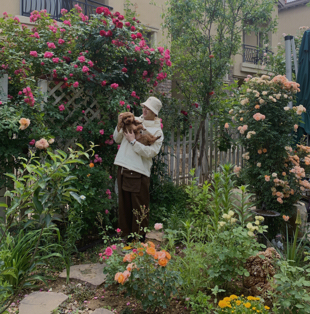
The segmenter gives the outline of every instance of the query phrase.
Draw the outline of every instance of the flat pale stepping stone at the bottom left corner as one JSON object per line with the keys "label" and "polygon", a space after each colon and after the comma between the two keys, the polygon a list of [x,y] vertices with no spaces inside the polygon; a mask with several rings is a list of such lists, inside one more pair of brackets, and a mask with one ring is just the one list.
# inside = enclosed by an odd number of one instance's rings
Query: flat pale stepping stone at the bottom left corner
{"label": "flat pale stepping stone at the bottom left corner", "polygon": [[19,302],[20,314],[51,314],[68,296],[61,292],[32,292]]}

